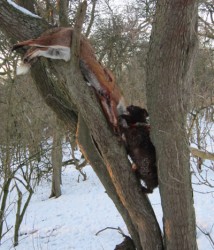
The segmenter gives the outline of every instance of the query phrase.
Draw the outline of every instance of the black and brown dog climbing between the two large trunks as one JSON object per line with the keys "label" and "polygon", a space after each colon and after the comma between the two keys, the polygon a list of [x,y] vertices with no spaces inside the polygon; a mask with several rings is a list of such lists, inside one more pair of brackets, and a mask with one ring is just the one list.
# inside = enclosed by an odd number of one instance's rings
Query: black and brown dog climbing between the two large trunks
{"label": "black and brown dog climbing between the two large trunks", "polygon": [[131,157],[132,170],[143,180],[145,193],[152,193],[158,186],[155,147],[150,139],[148,112],[138,106],[128,106],[128,114],[120,116],[123,141],[127,154]]}

